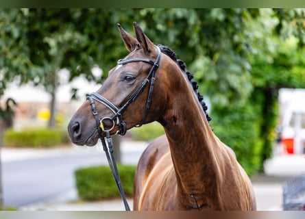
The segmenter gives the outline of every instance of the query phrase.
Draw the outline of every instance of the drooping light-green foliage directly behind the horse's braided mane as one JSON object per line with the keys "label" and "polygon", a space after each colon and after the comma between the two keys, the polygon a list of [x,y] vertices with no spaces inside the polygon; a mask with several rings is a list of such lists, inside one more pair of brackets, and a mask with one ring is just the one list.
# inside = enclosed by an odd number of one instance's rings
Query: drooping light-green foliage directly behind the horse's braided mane
{"label": "drooping light-green foliage directly behind the horse's braided mane", "polygon": [[175,50],[204,83],[202,91],[213,103],[228,105],[247,99],[252,89],[246,58],[251,45],[244,37],[243,23],[258,16],[258,10],[146,9],[140,13],[145,16],[140,22],[145,33]]}

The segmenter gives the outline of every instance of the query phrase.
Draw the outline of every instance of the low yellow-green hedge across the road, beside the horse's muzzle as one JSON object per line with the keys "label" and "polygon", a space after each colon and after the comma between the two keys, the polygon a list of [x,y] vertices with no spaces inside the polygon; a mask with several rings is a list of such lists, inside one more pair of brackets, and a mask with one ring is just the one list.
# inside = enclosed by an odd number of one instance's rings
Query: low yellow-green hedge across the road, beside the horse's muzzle
{"label": "low yellow-green hedge across the road, beside the horse's muzzle", "polygon": [[43,128],[28,128],[22,131],[8,129],[3,134],[3,143],[12,148],[40,148],[58,146],[67,142],[66,131]]}

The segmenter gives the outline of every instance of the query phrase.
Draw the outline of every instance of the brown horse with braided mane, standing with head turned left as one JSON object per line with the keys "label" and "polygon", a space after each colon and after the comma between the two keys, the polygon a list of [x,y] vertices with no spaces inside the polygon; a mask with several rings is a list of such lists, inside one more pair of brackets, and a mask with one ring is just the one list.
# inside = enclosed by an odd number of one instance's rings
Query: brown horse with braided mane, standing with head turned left
{"label": "brown horse with braided mane, standing with head turned left", "polygon": [[[103,104],[97,104],[103,130],[122,134],[122,124],[131,129],[158,121],[166,133],[149,144],[138,162],[134,210],[255,210],[251,182],[210,128],[206,107],[183,62],[167,47],[158,49],[136,23],[136,38],[118,26],[130,53],[110,70],[95,95],[112,104],[100,99]],[[156,78],[147,76],[152,66]],[[143,83],[150,86],[138,92]],[[90,112],[86,101],[71,118],[68,129],[75,144],[97,143],[99,131]]]}

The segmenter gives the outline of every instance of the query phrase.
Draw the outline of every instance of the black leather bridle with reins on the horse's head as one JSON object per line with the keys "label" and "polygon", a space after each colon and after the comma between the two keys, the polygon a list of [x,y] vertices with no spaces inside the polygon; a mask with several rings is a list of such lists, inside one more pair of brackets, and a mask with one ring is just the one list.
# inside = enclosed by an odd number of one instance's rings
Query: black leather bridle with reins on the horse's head
{"label": "black leather bridle with reins on the horse's head", "polygon": [[[119,189],[119,192],[121,194],[121,197],[123,199],[123,203],[125,205],[125,209],[127,211],[130,211],[130,207],[126,201],[125,198],[125,194],[123,191],[123,187],[121,185],[121,179],[119,177],[119,171],[117,170],[117,164],[115,162],[114,159],[114,154],[113,154],[113,146],[112,146],[112,139],[110,137],[110,131],[112,131],[112,129],[114,129],[115,125],[118,125],[119,127],[119,131],[117,131],[117,134],[120,134],[121,136],[125,135],[126,131],[127,131],[127,127],[126,127],[126,123],[123,121],[122,118],[122,113],[126,110],[126,108],[132,103],[134,102],[138,96],[143,92],[143,90],[145,89],[145,87],[147,86],[147,84],[150,81],[150,86],[149,86],[149,92],[148,92],[148,96],[147,96],[147,101],[146,101],[146,105],[145,105],[145,111],[143,114],[143,118],[141,120],[141,122],[136,125],[136,127],[141,127],[141,125],[143,125],[145,123],[145,120],[147,118],[147,114],[148,114],[148,110],[151,104],[151,97],[152,97],[152,93],[154,90],[154,81],[155,81],[155,76],[156,76],[156,70],[159,67],[159,63],[160,63],[160,57],[161,57],[161,51],[159,47],[156,47],[158,54],[156,57],[156,61],[151,61],[145,57],[135,57],[132,59],[127,59],[127,60],[119,60],[117,62],[117,64],[119,65],[123,65],[123,64],[127,64],[130,62],[147,62],[149,64],[152,65],[151,70],[149,71],[147,77],[142,81],[141,86],[139,86],[127,99],[127,101],[122,105],[121,108],[116,107],[113,103],[111,103],[110,101],[108,101],[108,99],[104,98],[103,96],[97,94],[96,92],[93,92],[92,94],[90,94],[87,99],[91,105],[92,111],[93,111],[93,116],[95,118],[95,123],[96,123],[96,127],[97,127],[97,131],[99,133],[99,138],[101,139],[101,142],[103,144],[103,151],[105,151],[106,153],[106,157],[108,159],[108,164],[110,166],[110,169],[112,171],[112,175],[114,177],[114,181],[117,183],[117,188]],[[97,107],[95,105],[95,101],[98,101],[99,103],[102,103],[103,105],[106,105],[106,107],[108,107],[112,112],[113,112],[113,116],[112,117],[103,117],[103,118],[99,118],[98,113],[97,113]],[[104,123],[103,121],[106,120],[110,120],[112,122],[112,127],[110,127],[110,129],[105,129],[104,127]],[[105,137],[103,137],[103,133],[105,133],[104,136],[106,136],[106,140],[108,143],[108,147],[105,141]],[[109,149],[108,149],[109,148]]]}

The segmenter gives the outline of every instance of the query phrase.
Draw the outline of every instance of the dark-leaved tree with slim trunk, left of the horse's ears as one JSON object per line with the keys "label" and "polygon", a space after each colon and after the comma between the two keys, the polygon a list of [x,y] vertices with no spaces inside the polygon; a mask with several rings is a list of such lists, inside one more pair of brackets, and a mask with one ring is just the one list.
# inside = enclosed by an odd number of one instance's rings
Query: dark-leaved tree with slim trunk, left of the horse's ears
{"label": "dark-leaved tree with slim trunk, left of the horse's ears", "polygon": [[29,60],[35,66],[34,82],[43,85],[51,94],[49,126],[54,127],[56,88],[59,86],[58,70],[68,69],[70,81],[80,75],[85,75],[89,81],[101,81],[101,78],[94,77],[92,68],[98,66],[107,72],[115,63],[114,59],[122,53],[123,49],[116,47],[121,39],[115,23],[119,22],[117,13],[123,14],[124,10],[25,11],[27,38],[31,39],[28,40]]}

